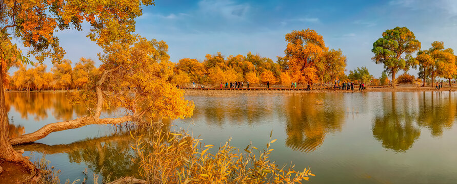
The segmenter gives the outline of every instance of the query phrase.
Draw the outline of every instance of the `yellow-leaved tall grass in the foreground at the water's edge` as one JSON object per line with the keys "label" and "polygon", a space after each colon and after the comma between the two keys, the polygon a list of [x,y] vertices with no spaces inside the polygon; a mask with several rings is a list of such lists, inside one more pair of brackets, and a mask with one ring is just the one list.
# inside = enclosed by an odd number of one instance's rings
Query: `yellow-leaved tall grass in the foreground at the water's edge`
{"label": "yellow-leaved tall grass in the foreground at the water's edge", "polygon": [[215,150],[187,131],[152,129],[149,135],[132,133],[139,172],[148,183],[301,183],[314,176],[309,168],[295,171],[294,165],[279,168],[272,162],[271,133],[266,149],[249,144],[242,150],[229,139]]}

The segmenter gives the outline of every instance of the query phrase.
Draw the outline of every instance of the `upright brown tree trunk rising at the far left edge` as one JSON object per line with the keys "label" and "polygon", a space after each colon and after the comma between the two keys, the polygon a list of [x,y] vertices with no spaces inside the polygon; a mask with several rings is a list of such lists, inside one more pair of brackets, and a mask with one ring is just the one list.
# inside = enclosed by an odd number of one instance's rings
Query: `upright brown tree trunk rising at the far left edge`
{"label": "upright brown tree trunk rising at the far left edge", "polygon": [[9,162],[23,163],[24,166],[30,170],[30,172],[34,172],[35,167],[30,160],[23,157],[22,154],[16,152],[10,143],[9,123],[5,108],[5,91],[3,86],[5,76],[3,76],[3,67],[5,67],[4,64],[0,64],[0,159],[4,159]]}

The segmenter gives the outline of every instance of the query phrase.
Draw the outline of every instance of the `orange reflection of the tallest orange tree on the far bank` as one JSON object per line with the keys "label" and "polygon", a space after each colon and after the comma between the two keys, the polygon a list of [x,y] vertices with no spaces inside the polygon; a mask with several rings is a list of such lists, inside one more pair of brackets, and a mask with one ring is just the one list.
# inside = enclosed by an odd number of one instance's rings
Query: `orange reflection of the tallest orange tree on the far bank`
{"label": "orange reflection of the tallest orange tree on the far bank", "polygon": [[320,147],[327,133],[341,131],[345,118],[342,104],[342,94],[306,94],[287,98],[286,146],[304,152]]}

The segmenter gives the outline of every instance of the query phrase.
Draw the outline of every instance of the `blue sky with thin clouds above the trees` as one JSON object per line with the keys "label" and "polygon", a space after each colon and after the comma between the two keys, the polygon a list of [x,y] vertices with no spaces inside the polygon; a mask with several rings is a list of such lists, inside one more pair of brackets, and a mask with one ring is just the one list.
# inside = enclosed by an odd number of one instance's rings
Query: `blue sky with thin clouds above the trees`
{"label": "blue sky with thin clouds above the trees", "polygon": [[[166,41],[172,62],[186,57],[203,61],[206,54],[216,52],[229,56],[249,51],[275,61],[276,56],[284,56],[285,34],[310,28],[324,37],[330,49],[343,51],[348,71],[367,66],[379,77],[383,66],[371,60],[372,44],[382,32],[396,26],[414,32],[422,49],[438,40],[457,50],[457,1],[157,0],[137,18],[136,33]],[[85,26],[83,31],[57,33],[67,52],[65,58],[73,63],[81,57],[97,60],[101,49],[86,38],[87,32]],[[45,64],[49,70],[51,63]]]}

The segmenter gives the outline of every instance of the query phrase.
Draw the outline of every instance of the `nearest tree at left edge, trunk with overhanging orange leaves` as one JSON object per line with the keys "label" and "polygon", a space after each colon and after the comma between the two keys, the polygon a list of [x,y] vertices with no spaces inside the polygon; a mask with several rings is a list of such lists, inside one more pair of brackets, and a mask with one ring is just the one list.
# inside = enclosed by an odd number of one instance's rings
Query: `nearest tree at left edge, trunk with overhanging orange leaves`
{"label": "nearest tree at left edge, trunk with overhanging orange leaves", "polygon": [[43,62],[45,58],[59,62],[65,51],[54,35],[57,30],[81,30],[82,22],[87,21],[91,26],[88,37],[98,45],[107,45],[114,40],[125,42],[131,39],[135,18],[142,15],[142,5],[152,4],[153,0],[0,0],[0,159],[22,162],[34,170],[32,164],[12,148],[9,140],[4,108],[5,74],[9,67],[18,62],[29,62],[11,42],[11,35],[22,41],[24,47],[28,48],[27,54],[34,55],[38,62]]}

